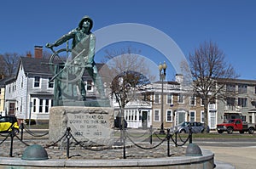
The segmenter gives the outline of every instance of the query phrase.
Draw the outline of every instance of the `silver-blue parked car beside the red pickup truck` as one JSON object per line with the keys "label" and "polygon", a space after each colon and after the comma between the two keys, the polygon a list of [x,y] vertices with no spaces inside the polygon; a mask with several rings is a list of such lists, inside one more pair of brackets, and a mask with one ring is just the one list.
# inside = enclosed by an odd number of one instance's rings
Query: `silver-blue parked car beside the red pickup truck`
{"label": "silver-blue parked car beside the red pickup truck", "polygon": [[[205,131],[204,124],[201,122],[190,122],[190,121],[183,121],[182,123],[178,124],[176,127],[172,128],[171,131],[178,132],[178,133],[189,133],[189,126],[191,127],[192,133],[200,133]],[[207,132],[210,132],[210,127],[206,128]]]}

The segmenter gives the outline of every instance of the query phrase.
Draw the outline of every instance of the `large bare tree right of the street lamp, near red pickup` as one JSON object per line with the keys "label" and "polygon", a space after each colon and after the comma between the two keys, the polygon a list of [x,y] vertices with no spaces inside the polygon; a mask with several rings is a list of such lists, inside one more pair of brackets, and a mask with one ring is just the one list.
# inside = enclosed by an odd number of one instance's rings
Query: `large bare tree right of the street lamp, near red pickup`
{"label": "large bare tree right of the street lamp, near red pickup", "polygon": [[216,43],[204,42],[189,54],[189,65],[195,93],[204,103],[204,122],[208,125],[208,104],[225,98],[224,87],[237,78],[234,68],[225,62],[225,54]]}

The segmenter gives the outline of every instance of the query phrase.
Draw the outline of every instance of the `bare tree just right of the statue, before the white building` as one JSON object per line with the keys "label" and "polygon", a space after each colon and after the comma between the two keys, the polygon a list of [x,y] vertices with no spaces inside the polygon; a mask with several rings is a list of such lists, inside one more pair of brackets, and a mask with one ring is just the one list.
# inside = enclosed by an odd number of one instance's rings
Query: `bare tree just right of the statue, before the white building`
{"label": "bare tree just right of the statue, before the white building", "polygon": [[[107,54],[104,60],[110,69],[111,76],[111,93],[113,99],[119,104],[120,119],[124,125],[124,109],[125,105],[131,100],[142,99],[137,91],[143,85],[154,80],[154,76],[150,75],[148,66],[143,57],[140,57],[137,50],[131,47],[121,49],[120,51],[105,51]],[[124,127],[124,126],[123,126]]]}

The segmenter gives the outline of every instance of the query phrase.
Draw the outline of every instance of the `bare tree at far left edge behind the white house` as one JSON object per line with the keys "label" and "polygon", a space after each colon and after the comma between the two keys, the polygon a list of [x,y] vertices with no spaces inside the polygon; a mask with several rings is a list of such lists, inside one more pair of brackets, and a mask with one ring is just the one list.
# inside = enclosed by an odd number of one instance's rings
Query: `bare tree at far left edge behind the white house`
{"label": "bare tree at far left edge behind the white house", "polygon": [[1,71],[4,76],[13,76],[19,65],[20,55],[16,53],[0,54]]}

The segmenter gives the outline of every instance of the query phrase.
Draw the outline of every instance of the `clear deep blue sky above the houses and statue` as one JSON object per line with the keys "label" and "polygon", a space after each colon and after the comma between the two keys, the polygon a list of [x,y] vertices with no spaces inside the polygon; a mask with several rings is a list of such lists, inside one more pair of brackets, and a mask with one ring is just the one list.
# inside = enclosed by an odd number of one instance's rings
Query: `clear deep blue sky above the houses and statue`
{"label": "clear deep blue sky above the houses and statue", "polygon": [[[255,8],[253,0],[3,1],[0,54],[33,53],[35,45],[55,42],[87,14],[94,20],[92,31],[121,23],[152,26],[171,37],[186,57],[211,40],[224,51],[225,61],[234,66],[241,79],[255,80]],[[158,51],[136,43],[132,47],[141,49],[157,64],[164,59]],[[173,75],[171,71],[167,74]]]}

